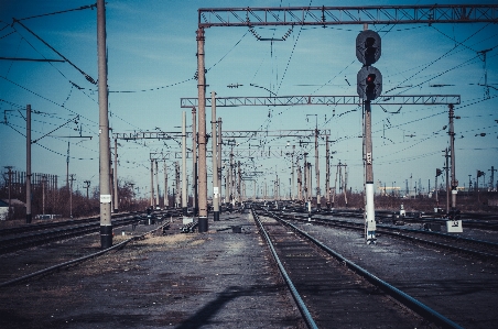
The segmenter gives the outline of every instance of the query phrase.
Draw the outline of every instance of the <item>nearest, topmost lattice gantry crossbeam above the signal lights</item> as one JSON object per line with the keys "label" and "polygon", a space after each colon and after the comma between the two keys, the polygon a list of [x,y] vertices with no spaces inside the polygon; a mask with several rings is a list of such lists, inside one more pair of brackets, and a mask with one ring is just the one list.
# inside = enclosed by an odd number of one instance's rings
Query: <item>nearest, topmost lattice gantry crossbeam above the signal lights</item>
{"label": "nearest, topmost lattice gantry crossbeam above the signal lights", "polygon": [[201,8],[198,28],[498,22],[498,4]]}

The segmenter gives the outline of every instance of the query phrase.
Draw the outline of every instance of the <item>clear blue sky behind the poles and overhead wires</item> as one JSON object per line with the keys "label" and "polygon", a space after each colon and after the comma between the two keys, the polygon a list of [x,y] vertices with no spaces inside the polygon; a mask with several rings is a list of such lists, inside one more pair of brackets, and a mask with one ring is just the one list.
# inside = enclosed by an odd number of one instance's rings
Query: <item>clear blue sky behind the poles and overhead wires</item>
{"label": "clear blue sky behind the poles and overhead wires", "polygon": [[[437,1],[440,4],[469,1]],[[475,2],[475,1],[472,1]],[[479,1],[494,3],[495,1]],[[198,8],[361,6],[364,1],[107,1],[107,45],[109,116],[112,132],[181,131],[182,97],[197,97],[196,39]],[[430,4],[430,1],[377,1],[376,4]],[[91,4],[85,0],[0,0],[0,57],[61,59],[12,18],[23,19]],[[32,32],[68,58],[80,70],[97,79],[96,10],[80,10],[23,20]],[[456,175],[459,186],[468,186],[468,175],[498,168],[498,25],[400,24],[371,25],[382,37],[382,56],[375,66],[382,73],[386,95],[461,95],[455,114]],[[323,28],[259,28],[261,37],[286,41],[258,41],[247,28],[206,30],[206,95],[219,97],[290,95],[356,95],[356,74],[361,64],[355,56],[355,40],[362,25]],[[489,99],[485,99],[485,67]],[[241,85],[229,88],[229,85]],[[259,86],[255,87],[251,85]],[[391,91],[388,91],[390,90]],[[132,91],[132,92],[122,92]],[[66,158],[69,173],[76,174],[75,188],[84,180],[98,185],[98,102],[96,86],[68,63],[19,62],[0,59],[0,166],[25,171],[25,106],[31,105],[32,172],[59,176],[65,183]],[[207,122],[210,108],[206,109]],[[308,116],[311,114],[311,116]],[[67,121],[74,121],[59,128]],[[335,165],[347,164],[348,185],[362,189],[362,118],[355,106],[239,107],[218,108],[227,131],[318,129],[329,130],[332,177]],[[444,166],[443,151],[448,147],[446,106],[372,107],[374,177],[376,183],[399,186],[429,179],[434,185],[435,169]],[[59,128],[59,129],[57,129]],[[57,130],[55,130],[57,129]],[[191,128],[187,128],[190,130]],[[55,130],[54,132],[52,132]],[[210,132],[210,125],[207,127]],[[50,133],[52,132],[52,133]],[[46,135],[50,133],[48,135]],[[46,135],[46,136],[45,136]],[[68,138],[73,136],[73,138]],[[82,136],[82,138],[79,138]],[[91,136],[91,140],[85,136]],[[306,141],[306,140],[302,140]],[[312,141],[312,140],[310,140]],[[239,150],[282,152],[292,145],[299,153],[314,155],[312,144],[299,139],[261,138],[238,140]],[[188,140],[188,147],[191,141]],[[290,146],[286,146],[286,145]],[[68,146],[69,145],[69,146]],[[210,142],[208,143],[210,149]],[[69,151],[68,151],[69,150]],[[150,154],[180,152],[175,141],[119,141],[121,179],[136,183],[141,193],[149,189]],[[321,141],[321,187],[325,179],[325,144]],[[262,172],[269,186],[281,178],[289,193],[290,158],[238,158],[243,169]],[[169,175],[173,177],[174,156]],[[236,160],[237,161],[237,160]],[[311,158],[314,165],[314,158]],[[191,173],[191,161],[188,161]],[[302,165],[302,161],[301,161]],[[208,166],[210,173],[210,162]],[[160,166],[162,171],[162,166]],[[4,169],[3,169],[4,171]],[[162,174],[161,174],[162,177]],[[495,176],[497,180],[498,175]],[[172,182],[172,179],[170,179]],[[210,178],[208,178],[210,182]],[[483,178],[480,178],[483,182]],[[441,183],[441,179],[440,179]],[[332,185],[334,183],[332,182]],[[496,185],[496,183],[495,183]],[[315,186],[315,183],[313,183]],[[209,188],[210,190],[210,188]],[[283,193],[282,190],[282,193]],[[252,184],[248,184],[252,195]]]}

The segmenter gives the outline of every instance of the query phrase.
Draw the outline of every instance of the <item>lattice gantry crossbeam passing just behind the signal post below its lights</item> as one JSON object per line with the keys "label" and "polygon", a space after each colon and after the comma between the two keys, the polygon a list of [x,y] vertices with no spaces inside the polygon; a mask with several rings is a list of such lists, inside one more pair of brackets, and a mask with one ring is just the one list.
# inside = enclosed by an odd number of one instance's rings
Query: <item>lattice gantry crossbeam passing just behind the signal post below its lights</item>
{"label": "lattice gantry crossbeam passing just behind the signal post below its lights", "polygon": [[[378,105],[458,105],[459,95],[415,95],[415,96],[382,96],[371,103]],[[359,96],[269,96],[269,97],[217,97],[217,108],[247,106],[360,106]],[[181,98],[182,108],[198,106],[197,98]],[[212,99],[206,98],[206,107],[212,106]]]}

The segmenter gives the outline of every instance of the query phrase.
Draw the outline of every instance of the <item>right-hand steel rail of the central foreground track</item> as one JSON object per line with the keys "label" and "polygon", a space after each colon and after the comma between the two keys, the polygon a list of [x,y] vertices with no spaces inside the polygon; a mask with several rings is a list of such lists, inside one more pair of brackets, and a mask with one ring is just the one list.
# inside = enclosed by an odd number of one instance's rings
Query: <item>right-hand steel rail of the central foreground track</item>
{"label": "right-hand steel rail of the central foreground track", "polygon": [[402,303],[403,305],[410,307],[410,309],[414,310],[425,319],[430,319],[433,321],[436,326],[440,326],[442,328],[462,328],[459,325],[455,323],[454,321],[450,320],[445,316],[441,315],[436,310],[430,308],[425,304],[419,301],[418,299],[413,298],[412,296],[408,295],[407,293],[403,293],[402,290],[398,289],[397,287],[390,285],[389,283],[382,281],[381,278],[377,277],[376,275],[371,274],[367,270],[360,267],[359,265],[355,264],[354,262],[349,261],[348,259],[344,257],[342,254],[337,253],[336,251],[329,249],[327,245],[322,243],[321,241],[316,240],[308,233],[300,230],[297,227],[293,226],[292,223],[288,222],[286,220],[280,218],[275,213],[267,211],[272,218],[281,221],[289,228],[293,229],[295,232],[300,233],[302,237],[305,237],[311,242],[313,242],[315,245],[317,245],[320,249],[328,253],[329,255],[337,259],[339,262],[343,262],[348,268],[353,270],[360,276],[365,277],[368,282],[372,283],[374,285],[380,287],[382,290],[391,295],[393,298]]}

